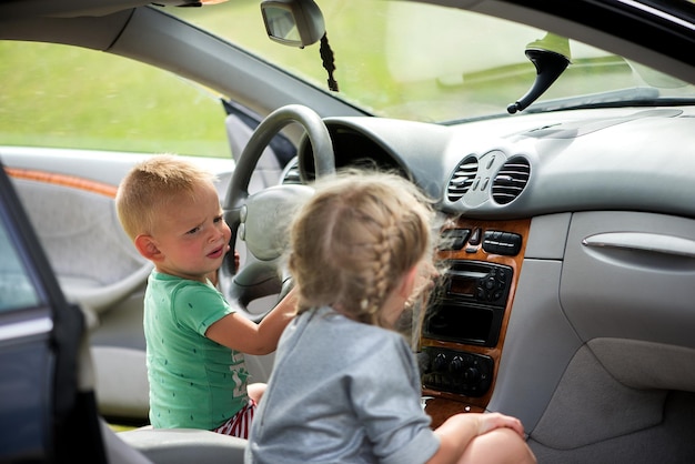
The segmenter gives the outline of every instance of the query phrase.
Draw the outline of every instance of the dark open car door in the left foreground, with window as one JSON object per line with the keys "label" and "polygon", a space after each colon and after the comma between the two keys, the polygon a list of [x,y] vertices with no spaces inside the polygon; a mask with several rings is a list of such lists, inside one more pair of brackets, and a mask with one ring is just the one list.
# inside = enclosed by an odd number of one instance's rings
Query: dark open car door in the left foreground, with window
{"label": "dark open car door in the left foreground, with window", "polygon": [[0,164],[0,462],[105,462],[84,335]]}

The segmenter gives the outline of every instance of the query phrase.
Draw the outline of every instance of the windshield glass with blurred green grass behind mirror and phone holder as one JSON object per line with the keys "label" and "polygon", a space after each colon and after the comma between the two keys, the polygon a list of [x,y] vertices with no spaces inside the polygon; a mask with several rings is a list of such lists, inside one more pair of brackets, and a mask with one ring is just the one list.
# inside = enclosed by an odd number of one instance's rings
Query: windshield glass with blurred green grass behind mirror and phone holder
{"label": "windshield glass with blurred green grass behind mirror and phone holder", "polygon": [[[416,2],[316,0],[334,57],[329,90],[320,43],[271,41],[258,1],[229,1],[174,13],[379,117],[447,122],[507,114],[531,88],[526,57],[547,31]],[[692,99],[695,88],[622,57],[551,37],[570,64],[526,112]]]}

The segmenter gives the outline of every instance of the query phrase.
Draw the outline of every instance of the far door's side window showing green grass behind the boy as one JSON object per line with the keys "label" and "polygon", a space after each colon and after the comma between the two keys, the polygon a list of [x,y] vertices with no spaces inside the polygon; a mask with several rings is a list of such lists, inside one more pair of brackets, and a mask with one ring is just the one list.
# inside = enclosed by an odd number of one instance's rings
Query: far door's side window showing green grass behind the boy
{"label": "far door's side window showing green grass behind the boy", "polygon": [[78,47],[0,42],[0,145],[230,158],[218,95]]}

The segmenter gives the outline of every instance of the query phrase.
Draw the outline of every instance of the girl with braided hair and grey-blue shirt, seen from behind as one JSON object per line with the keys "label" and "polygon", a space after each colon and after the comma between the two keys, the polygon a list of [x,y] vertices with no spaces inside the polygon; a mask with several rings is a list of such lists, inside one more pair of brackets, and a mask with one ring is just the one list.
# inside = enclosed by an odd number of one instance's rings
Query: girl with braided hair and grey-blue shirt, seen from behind
{"label": "girl with braided hair and grey-blue shirt, seen from behind", "polygon": [[246,463],[534,463],[521,422],[423,411],[414,354],[394,329],[432,269],[432,211],[401,176],[318,184],[291,231],[298,316],[284,330]]}

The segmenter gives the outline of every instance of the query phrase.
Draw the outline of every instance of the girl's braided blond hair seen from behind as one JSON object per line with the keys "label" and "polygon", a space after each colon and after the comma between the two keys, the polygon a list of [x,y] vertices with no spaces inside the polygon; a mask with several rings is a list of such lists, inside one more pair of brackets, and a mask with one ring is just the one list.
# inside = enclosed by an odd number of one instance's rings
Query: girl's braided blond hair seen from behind
{"label": "girl's braided blond hair seen from behind", "polygon": [[431,258],[431,202],[392,173],[343,172],[315,186],[290,234],[298,312],[331,305],[386,325],[380,312],[386,297]]}

